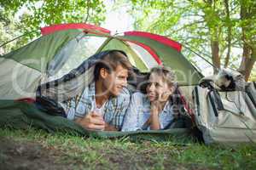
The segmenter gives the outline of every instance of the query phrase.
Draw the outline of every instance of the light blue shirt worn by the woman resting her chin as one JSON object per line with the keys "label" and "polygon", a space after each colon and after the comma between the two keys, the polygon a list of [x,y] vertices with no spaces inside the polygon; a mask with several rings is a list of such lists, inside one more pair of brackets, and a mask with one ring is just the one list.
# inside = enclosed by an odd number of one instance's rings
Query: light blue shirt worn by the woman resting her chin
{"label": "light blue shirt worn by the woman resting her chin", "polygon": [[[164,109],[159,114],[160,129],[164,129],[172,123],[172,105],[166,102]],[[143,127],[150,116],[150,101],[146,94],[137,92],[132,94],[130,105],[126,111],[122,131],[137,131],[150,129],[150,126]]]}

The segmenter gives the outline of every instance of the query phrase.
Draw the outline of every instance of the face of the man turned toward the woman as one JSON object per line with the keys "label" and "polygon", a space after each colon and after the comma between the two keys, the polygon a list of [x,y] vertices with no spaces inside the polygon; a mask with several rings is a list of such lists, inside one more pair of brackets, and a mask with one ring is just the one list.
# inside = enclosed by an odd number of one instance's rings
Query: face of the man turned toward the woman
{"label": "face of the man turned toward the woman", "polygon": [[118,65],[115,71],[107,73],[106,77],[103,77],[104,88],[113,96],[117,96],[127,86],[127,77],[128,70],[122,65]]}

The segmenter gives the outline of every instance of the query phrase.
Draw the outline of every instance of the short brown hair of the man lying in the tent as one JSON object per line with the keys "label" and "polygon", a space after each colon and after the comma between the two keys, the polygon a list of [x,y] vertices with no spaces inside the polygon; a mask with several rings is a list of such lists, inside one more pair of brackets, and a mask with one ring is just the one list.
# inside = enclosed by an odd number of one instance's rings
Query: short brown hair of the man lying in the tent
{"label": "short brown hair of the man lying in the tent", "polygon": [[128,71],[131,70],[131,63],[128,60],[124,52],[113,50],[106,54],[100,61],[96,63],[94,70],[95,80],[100,77],[100,71],[102,68],[106,69],[109,73],[116,70],[116,67],[121,65]]}

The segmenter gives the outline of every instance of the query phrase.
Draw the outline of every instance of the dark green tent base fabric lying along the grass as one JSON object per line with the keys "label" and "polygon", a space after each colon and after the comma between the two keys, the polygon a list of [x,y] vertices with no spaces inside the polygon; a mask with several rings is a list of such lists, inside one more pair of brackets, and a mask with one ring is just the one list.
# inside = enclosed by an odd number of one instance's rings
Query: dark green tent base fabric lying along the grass
{"label": "dark green tent base fabric lying along the grass", "polygon": [[131,137],[131,139],[168,140],[172,137],[188,138],[189,136],[189,129],[187,128],[136,132],[89,131],[63,116],[50,116],[43,111],[39,111],[37,106],[33,103],[30,104],[14,100],[0,101],[0,127],[12,127],[18,129],[38,127],[49,133],[65,132],[103,139]]}

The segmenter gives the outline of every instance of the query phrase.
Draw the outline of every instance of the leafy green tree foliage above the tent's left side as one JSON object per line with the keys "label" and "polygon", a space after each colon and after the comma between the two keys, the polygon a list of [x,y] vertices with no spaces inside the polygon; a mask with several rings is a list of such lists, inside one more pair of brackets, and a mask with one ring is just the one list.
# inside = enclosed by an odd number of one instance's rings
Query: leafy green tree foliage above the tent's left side
{"label": "leafy green tree foliage above the tent's left side", "polygon": [[[1,0],[0,11],[0,31],[5,32],[4,35],[14,38],[17,35],[15,30],[19,35],[26,34],[20,42],[15,43],[16,47],[38,37],[38,30],[42,26],[60,23],[99,25],[105,20],[106,12],[102,0]],[[15,32],[15,36],[8,33],[10,31]],[[2,44],[6,38],[0,40]]]}

